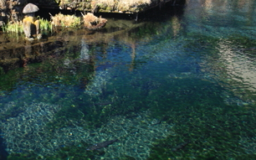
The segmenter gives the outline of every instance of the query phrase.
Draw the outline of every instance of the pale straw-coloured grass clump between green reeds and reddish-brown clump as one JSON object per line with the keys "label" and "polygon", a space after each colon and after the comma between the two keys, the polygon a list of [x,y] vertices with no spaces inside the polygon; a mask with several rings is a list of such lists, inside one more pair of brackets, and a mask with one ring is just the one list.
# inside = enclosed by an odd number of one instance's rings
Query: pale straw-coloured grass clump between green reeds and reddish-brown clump
{"label": "pale straw-coloured grass clump between green reeds and reddish-brown clump", "polygon": [[52,24],[54,26],[61,27],[78,27],[81,25],[81,18],[75,15],[63,15],[57,14],[55,16],[51,15]]}

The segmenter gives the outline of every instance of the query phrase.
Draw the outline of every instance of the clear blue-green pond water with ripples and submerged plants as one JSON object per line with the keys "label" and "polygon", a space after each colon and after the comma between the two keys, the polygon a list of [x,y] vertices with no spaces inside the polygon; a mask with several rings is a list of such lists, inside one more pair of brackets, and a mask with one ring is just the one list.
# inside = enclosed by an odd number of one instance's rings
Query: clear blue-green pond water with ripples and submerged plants
{"label": "clear blue-green pond water with ripples and submerged plants", "polygon": [[0,159],[256,159],[255,15],[190,0],[53,35],[1,68]]}

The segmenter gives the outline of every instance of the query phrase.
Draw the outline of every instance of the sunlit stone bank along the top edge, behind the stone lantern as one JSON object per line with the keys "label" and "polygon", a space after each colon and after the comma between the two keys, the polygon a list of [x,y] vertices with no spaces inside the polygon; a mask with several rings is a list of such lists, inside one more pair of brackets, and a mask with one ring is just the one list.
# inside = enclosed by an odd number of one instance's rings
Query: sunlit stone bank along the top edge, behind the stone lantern
{"label": "sunlit stone bank along the top edge, behind the stone lantern", "polygon": [[0,0],[0,26],[4,23],[22,20],[22,10],[27,3],[34,3],[40,9],[79,10],[85,12],[111,12],[134,14],[165,3],[183,3],[185,0]]}

